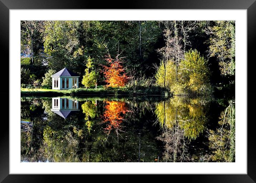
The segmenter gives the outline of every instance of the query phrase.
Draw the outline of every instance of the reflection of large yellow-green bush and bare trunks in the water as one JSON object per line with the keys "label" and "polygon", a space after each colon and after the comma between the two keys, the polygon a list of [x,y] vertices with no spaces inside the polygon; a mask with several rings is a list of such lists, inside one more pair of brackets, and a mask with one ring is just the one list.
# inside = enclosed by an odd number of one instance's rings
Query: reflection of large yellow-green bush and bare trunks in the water
{"label": "reflection of large yellow-green bush and bare trunks in the water", "polygon": [[206,126],[205,105],[202,99],[171,98],[156,104],[155,114],[164,142],[163,160],[189,161],[188,144],[195,140]]}

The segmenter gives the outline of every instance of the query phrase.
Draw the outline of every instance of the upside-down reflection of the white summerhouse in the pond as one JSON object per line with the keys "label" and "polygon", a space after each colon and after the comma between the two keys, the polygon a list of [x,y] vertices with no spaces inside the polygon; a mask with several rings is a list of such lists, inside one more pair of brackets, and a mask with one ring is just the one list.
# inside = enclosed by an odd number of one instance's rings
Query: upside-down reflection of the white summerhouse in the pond
{"label": "upside-down reflection of the white summerhouse in the pond", "polygon": [[72,111],[79,111],[78,101],[70,98],[54,97],[52,98],[51,111],[66,119]]}

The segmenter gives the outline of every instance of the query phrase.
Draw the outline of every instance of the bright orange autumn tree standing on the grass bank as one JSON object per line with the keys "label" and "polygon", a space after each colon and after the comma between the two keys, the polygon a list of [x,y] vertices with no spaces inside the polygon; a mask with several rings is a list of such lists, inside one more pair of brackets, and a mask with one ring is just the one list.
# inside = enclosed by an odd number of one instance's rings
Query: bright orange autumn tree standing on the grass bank
{"label": "bright orange autumn tree standing on the grass bank", "polygon": [[105,75],[105,82],[108,83],[108,87],[119,87],[125,86],[128,82],[129,77],[126,75],[123,66],[121,65],[121,59],[118,59],[118,56],[115,59],[112,59],[109,56],[105,59],[108,62],[109,66],[103,65],[103,73]]}

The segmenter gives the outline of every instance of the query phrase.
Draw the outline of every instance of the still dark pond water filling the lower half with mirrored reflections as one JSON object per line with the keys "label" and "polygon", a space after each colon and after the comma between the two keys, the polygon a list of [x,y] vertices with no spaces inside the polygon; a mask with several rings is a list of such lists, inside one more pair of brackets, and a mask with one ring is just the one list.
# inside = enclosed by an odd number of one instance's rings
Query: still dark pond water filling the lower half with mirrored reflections
{"label": "still dark pond water filling the lower half with mirrored reflections", "polygon": [[22,97],[21,162],[235,162],[235,101]]}

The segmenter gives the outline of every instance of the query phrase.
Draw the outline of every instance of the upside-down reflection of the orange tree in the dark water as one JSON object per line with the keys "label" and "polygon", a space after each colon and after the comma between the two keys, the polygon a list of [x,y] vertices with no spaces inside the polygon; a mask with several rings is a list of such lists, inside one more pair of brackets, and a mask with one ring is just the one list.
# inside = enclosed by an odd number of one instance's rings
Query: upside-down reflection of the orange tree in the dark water
{"label": "upside-down reflection of the orange tree in the dark water", "polygon": [[118,131],[121,131],[121,123],[123,121],[123,115],[128,112],[125,102],[123,101],[107,101],[105,111],[103,114],[104,123],[107,123],[107,127],[104,128],[105,132],[110,133],[112,129],[115,129],[118,137]]}

